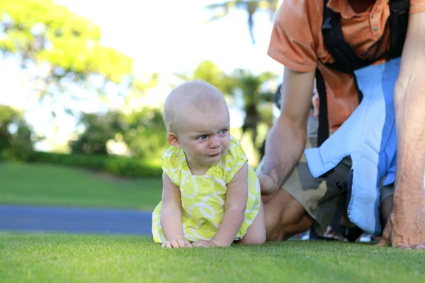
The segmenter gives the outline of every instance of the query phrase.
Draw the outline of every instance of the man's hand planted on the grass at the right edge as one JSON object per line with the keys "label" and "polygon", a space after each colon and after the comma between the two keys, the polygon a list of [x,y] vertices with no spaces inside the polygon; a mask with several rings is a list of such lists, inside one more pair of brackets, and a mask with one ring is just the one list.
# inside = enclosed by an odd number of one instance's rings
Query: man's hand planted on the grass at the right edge
{"label": "man's hand planted on the grass at the right edge", "polygon": [[405,191],[394,195],[394,208],[378,246],[425,249],[425,190]]}

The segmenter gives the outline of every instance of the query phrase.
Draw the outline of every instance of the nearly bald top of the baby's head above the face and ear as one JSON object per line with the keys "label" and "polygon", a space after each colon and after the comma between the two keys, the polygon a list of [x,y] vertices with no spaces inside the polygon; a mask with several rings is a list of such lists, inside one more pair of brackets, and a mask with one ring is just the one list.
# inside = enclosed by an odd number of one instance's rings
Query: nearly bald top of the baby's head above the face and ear
{"label": "nearly bald top of the baby's head above the face and ear", "polygon": [[[205,81],[188,81],[174,88],[164,102],[164,122],[168,132],[176,132],[179,125],[202,112],[208,115],[210,110],[226,108],[222,93]],[[227,110],[228,112],[228,110]]]}

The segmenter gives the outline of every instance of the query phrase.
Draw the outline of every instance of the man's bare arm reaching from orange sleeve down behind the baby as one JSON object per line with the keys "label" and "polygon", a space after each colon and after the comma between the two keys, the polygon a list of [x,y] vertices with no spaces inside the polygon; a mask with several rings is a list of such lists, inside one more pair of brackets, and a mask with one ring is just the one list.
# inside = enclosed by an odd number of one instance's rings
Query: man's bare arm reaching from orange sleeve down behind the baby
{"label": "man's bare arm reaching from orange sleeve down behind the baby", "polygon": [[314,71],[285,68],[280,116],[268,134],[266,154],[257,170],[262,195],[276,193],[302,155],[313,83]]}

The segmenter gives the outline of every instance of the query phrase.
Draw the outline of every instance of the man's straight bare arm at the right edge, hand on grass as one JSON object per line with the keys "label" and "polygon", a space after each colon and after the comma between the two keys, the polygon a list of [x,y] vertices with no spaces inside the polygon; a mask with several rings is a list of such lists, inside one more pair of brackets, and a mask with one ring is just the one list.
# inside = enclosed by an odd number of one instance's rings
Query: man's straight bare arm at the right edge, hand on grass
{"label": "man's straight bare arm at the right edge, hand on grass", "polygon": [[425,13],[409,16],[394,95],[397,129],[394,207],[380,245],[425,248]]}

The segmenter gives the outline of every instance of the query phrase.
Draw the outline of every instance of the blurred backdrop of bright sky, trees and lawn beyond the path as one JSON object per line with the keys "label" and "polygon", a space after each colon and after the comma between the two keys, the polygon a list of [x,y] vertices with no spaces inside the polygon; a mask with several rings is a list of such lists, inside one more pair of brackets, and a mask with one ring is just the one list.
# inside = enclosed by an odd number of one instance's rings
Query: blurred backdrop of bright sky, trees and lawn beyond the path
{"label": "blurred backdrop of bright sky, trees and lawn beyond the path", "polygon": [[278,112],[283,67],[266,52],[281,2],[0,1],[0,204],[152,210],[162,105],[191,79],[222,91],[256,167]]}

